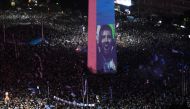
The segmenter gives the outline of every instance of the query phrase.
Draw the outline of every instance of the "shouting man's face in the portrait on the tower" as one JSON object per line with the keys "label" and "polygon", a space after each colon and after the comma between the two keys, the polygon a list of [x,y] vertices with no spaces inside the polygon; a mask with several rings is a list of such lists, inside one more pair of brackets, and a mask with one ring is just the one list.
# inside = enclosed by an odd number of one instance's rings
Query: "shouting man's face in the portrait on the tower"
{"label": "shouting man's face in the portrait on the tower", "polygon": [[110,55],[111,48],[112,48],[112,32],[111,29],[103,30],[100,34],[101,36],[101,45],[102,45],[102,52],[104,55]]}

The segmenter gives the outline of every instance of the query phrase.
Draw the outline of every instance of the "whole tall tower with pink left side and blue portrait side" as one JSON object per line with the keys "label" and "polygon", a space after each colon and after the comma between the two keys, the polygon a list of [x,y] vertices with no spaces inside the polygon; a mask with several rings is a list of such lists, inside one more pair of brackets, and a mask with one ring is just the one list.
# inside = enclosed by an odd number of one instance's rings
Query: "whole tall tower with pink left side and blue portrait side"
{"label": "whole tall tower with pink left side and blue portrait side", "polygon": [[[93,27],[88,27],[88,66],[94,69],[94,73],[114,73],[117,65],[114,0],[96,0],[94,4],[90,4],[92,1],[94,0],[89,0],[88,26]],[[96,5],[96,10],[93,11],[95,15],[92,15],[92,8],[94,8],[92,5]],[[92,16],[95,17],[94,21],[91,20]],[[96,49],[92,45],[95,45]],[[95,60],[92,59],[94,57]],[[95,66],[90,64],[92,62]]]}

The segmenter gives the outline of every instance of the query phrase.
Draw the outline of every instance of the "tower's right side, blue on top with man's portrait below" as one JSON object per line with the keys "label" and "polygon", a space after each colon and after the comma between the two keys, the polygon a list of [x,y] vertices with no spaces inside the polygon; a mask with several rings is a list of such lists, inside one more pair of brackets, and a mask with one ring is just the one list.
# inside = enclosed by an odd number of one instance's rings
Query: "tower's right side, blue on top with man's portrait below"
{"label": "tower's right side, blue on top with man's portrait below", "polygon": [[96,3],[97,71],[116,72],[116,40],[114,0],[97,0]]}

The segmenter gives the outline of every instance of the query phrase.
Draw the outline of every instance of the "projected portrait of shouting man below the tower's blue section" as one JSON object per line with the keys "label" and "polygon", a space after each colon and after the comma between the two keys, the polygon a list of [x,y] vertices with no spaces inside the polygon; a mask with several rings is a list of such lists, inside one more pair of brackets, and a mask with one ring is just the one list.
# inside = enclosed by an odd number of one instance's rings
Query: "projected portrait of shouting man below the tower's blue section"
{"label": "projected portrait of shouting man below the tower's blue section", "polygon": [[115,28],[113,24],[97,26],[97,69],[101,73],[116,71]]}

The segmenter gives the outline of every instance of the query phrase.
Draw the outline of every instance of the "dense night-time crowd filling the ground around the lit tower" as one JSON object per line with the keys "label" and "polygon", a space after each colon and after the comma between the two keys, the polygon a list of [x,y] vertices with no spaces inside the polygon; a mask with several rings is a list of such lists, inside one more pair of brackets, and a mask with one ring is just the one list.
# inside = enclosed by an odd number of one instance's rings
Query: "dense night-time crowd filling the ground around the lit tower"
{"label": "dense night-time crowd filling the ground around the lit tower", "polygon": [[147,19],[120,22],[117,74],[92,75],[86,67],[87,20],[80,14],[23,13],[4,12],[0,18],[0,98],[8,91],[10,106],[79,108],[53,96],[96,108],[189,105],[190,40],[180,30]]}

